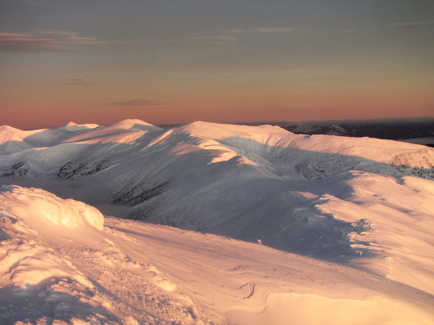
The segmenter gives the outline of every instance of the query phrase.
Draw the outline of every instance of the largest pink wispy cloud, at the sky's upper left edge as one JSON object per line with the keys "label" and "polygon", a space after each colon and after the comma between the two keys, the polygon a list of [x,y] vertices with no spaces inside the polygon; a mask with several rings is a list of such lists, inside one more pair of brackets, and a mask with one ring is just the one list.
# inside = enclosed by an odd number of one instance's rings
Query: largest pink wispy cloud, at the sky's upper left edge
{"label": "largest pink wispy cloud, at the sky's upper left edge", "polygon": [[101,41],[94,37],[81,37],[77,33],[48,31],[35,34],[0,33],[2,52],[59,52],[68,51],[70,44],[125,44],[121,41]]}

